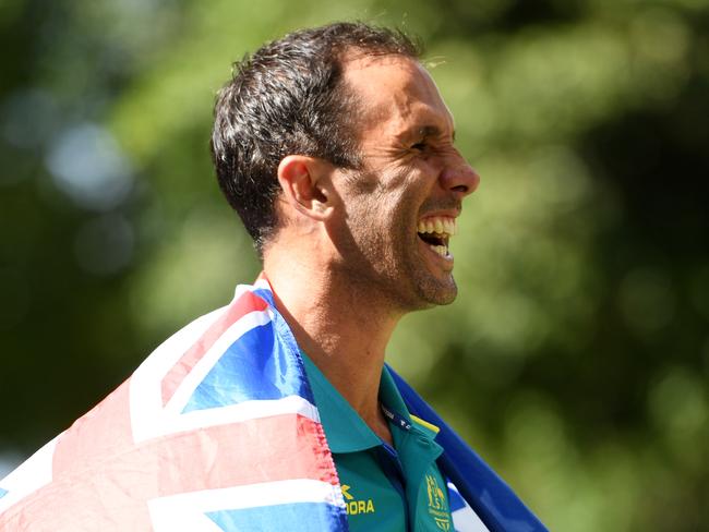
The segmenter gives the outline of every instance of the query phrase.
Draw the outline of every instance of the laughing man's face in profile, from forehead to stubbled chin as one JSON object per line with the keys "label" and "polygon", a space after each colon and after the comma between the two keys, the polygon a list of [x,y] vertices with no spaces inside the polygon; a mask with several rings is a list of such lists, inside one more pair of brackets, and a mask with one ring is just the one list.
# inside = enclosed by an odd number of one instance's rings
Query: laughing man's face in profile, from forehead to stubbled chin
{"label": "laughing man's face in profile, from forehead to stubbled chin", "polygon": [[450,303],[457,288],[448,239],[462,198],[480,181],[454,146],[453,117],[428,72],[408,58],[351,59],[345,83],[362,110],[354,125],[363,164],[336,181],[338,267],[399,311]]}

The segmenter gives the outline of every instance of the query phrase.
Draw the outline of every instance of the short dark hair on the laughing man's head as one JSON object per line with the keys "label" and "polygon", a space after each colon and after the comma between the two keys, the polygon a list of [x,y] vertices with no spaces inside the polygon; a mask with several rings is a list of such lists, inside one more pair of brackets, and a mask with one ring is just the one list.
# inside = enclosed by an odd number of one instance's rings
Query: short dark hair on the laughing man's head
{"label": "short dark hair on the laughing man's head", "polygon": [[262,255],[277,227],[277,169],[290,154],[360,165],[358,102],[341,81],[343,56],[405,56],[421,46],[400,31],[334,23],[268,43],[235,63],[215,105],[212,157],[219,186]]}

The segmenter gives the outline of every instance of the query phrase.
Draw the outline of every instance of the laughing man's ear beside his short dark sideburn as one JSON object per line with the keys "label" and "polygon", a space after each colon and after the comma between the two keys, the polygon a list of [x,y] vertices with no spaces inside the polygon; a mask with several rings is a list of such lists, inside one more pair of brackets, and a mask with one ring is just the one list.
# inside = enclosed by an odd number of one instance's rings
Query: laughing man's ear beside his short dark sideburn
{"label": "laughing man's ear beside his short dark sideburn", "polygon": [[301,214],[317,220],[333,210],[329,183],[332,165],[315,157],[288,155],[278,165],[284,200]]}

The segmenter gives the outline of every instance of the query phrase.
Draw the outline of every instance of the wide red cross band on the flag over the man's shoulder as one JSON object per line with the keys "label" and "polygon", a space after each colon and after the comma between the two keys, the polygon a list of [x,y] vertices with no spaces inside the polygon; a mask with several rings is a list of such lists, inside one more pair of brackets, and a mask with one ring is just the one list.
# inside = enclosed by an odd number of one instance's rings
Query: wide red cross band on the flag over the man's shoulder
{"label": "wide red cross band on the flag over the man's shoulder", "polygon": [[322,427],[296,414],[171,434],[88,460],[82,436],[64,434],[55,481],[0,516],[0,530],[151,530],[146,501],[155,497],[288,479],[337,484]]}

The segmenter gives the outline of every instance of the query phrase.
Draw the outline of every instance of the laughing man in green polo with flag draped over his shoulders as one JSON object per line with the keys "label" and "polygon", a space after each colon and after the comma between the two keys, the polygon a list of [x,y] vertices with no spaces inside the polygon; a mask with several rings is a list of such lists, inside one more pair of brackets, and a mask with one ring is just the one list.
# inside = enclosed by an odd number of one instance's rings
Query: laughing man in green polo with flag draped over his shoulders
{"label": "laughing man in green polo with flag draped over his shoulders", "polygon": [[239,64],[212,148],[264,273],[5,479],[0,529],[544,530],[384,365],[455,299],[479,182],[418,57],[332,24]]}

